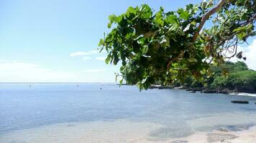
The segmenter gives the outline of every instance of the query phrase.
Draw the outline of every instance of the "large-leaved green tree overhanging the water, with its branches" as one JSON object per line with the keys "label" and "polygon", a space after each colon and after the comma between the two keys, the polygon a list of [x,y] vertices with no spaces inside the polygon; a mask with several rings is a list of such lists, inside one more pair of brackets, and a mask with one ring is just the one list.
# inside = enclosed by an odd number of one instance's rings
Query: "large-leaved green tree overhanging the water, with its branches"
{"label": "large-leaved green tree overhanging the water, with its branches", "polygon": [[[114,28],[99,46],[108,53],[107,64],[122,61],[116,76],[140,89],[188,76],[201,80],[211,75],[210,64],[234,56],[246,59],[237,45],[255,35],[255,19],[255,0],[210,0],[168,12],[142,4],[109,16],[108,28]],[[203,29],[206,21],[211,27]]]}

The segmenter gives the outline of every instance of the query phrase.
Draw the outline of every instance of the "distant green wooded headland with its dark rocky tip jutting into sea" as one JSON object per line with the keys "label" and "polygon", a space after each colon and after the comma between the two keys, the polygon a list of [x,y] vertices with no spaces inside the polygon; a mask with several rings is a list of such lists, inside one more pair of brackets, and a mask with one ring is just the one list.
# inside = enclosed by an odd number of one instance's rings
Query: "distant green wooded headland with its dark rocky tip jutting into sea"
{"label": "distant green wooded headland with its dark rocky tip jutting into sea", "polygon": [[226,61],[221,66],[210,68],[212,75],[206,75],[198,80],[193,77],[185,77],[183,82],[173,82],[167,86],[159,86],[160,82],[152,85],[150,89],[172,89],[180,88],[188,91],[203,93],[256,93],[256,71],[249,69],[242,61],[235,63]]}

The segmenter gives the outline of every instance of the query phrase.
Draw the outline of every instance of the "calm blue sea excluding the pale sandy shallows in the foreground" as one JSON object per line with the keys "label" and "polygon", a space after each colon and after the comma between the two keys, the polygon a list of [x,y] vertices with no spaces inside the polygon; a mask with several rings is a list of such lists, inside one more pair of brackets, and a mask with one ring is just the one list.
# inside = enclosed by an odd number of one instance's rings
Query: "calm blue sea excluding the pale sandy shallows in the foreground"
{"label": "calm blue sea excluding the pale sandy shallows in the foreground", "polygon": [[[256,124],[256,97],[191,94],[178,89],[140,92],[137,87],[115,84],[31,85],[0,84],[0,135],[58,123],[117,119],[163,124],[151,132],[155,137]],[[232,104],[234,99],[250,104]]]}

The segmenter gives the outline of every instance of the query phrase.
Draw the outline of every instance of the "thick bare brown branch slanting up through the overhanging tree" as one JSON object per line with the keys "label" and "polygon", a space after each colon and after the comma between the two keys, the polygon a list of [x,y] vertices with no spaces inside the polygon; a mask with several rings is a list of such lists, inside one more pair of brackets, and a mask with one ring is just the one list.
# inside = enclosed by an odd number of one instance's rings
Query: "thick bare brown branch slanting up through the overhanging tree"
{"label": "thick bare brown branch slanting up through the overhanging tree", "polygon": [[219,4],[217,4],[216,6],[214,6],[213,9],[211,9],[210,11],[206,12],[206,14],[204,14],[204,16],[201,19],[201,23],[198,26],[198,31],[193,35],[193,42],[196,41],[196,39],[198,37],[198,34],[201,31],[201,29],[203,28],[203,26],[206,23],[207,19],[209,19],[209,17],[212,14],[215,14],[216,11],[219,11],[219,9],[221,9],[221,7],[224,6],[225,3],[226,3],[226,0],[219,1]]}

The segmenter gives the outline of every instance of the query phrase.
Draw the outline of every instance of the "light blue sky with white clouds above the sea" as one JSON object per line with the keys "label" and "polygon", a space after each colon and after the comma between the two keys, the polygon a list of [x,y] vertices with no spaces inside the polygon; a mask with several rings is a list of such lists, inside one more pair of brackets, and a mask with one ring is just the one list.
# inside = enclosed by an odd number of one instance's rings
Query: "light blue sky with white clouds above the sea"
{"label": "light blue sky with white clouds above the sea", "polygon": [[[149,4],[175,11],[200,0],[0,0],[0,82],[115,82],[99,39],[110,14]],[[256,69],[256,38],[239,46]],[[232,59],[236,61],[236,59]]]}

